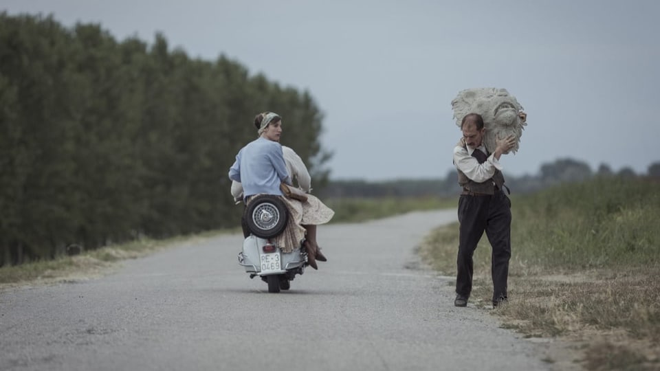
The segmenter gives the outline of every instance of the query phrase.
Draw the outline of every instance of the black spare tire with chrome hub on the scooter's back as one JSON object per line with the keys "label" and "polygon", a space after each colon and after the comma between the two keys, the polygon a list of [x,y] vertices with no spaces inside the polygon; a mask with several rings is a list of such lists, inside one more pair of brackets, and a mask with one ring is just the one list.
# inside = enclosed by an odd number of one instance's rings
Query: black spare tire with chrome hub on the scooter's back
{"label": "black spare tire with chrome hub on the scooter's back", "polygon": [[278,196],[260,194],[252,197],[243,218],[254,236],[273,238],[287,227],[289,210]]}

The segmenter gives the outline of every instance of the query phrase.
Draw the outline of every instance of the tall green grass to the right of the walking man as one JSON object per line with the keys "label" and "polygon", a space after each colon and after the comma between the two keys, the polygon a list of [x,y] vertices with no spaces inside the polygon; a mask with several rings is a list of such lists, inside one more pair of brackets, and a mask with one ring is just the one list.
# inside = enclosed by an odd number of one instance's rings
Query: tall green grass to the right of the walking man
{"label": "tall green grass to the right of the walking man", "polygon": [[660,262],[660,184],[612,178],[514,199],[518,258],[547,268]]}

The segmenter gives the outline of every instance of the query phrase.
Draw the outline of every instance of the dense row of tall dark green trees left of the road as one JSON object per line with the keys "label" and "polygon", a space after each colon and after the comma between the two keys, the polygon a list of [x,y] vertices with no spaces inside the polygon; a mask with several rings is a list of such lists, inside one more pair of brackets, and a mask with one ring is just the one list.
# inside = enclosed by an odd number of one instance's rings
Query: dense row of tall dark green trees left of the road
{"label": "dense row of tall dark green trees left of the road", "polygon": [[319,183],[307,91],[219,56],[117,41],[100,25],[0,14],[0,266],[237,225],[228,168],[260,111],[283,115]]}

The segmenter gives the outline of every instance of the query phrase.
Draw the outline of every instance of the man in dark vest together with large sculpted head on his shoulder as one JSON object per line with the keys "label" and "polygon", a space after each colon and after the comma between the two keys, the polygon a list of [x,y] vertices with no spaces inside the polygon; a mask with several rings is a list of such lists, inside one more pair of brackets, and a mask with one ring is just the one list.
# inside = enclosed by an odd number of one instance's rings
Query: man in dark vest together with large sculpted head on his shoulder
{"label": "man in dark vest together with large sculpted head on his shoulder", "polygon": [[500,157],[520,146],[527,115],[505,89],[478,88],[452,100],[463,136],[454,146],[454,166],[463,192],[459,198],[459,251],[455,306],[467,306],[472,291],[472,256],[483,232],[492,247],[493,306],[507,301],[511,258],[511,201]]}

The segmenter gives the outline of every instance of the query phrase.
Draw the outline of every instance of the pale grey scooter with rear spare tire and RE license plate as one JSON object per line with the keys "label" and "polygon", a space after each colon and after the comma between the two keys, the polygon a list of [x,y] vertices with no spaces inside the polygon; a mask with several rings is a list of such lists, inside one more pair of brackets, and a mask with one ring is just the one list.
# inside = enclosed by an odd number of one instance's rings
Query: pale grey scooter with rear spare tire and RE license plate
{"label": "pale grey scooter with rear spare tire and RE license plate", "polygon": [[287,227],[289,211],[285,203],[270,194],[254,196],[243,212],[243,250],[239,265],[245,267],[250,278],[256,276],[267,282],[269,293],[288,290],[296,274],[303,274],[307,252],[301,246],[289,253],[273,243]]}

